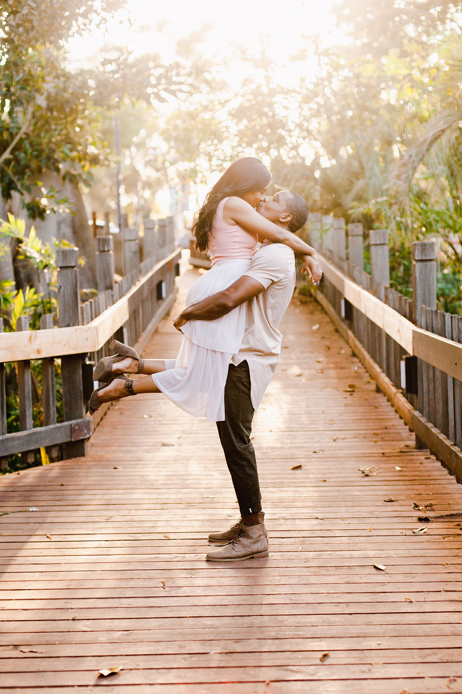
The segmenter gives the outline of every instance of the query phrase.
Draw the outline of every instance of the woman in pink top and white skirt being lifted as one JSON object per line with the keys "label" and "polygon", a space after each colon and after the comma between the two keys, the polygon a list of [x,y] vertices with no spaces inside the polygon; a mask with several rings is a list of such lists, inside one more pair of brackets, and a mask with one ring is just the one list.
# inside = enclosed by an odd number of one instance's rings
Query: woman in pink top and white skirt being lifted
{"label": "woman in pink top and white skirt being lifted", "polygon": [[[249,269],[258,237],[286,244],[296,253],[315,255],[311,246],[256,212],[256,205],[264,199],[270,179],[270,172],[259,159],[240,158],[206,196],[192,233],[199,250],[208,248],[212,268],[188,291],[187,307],[236,282]],[[222,421],[228,366],[240,348],[244,331],[245,305],[215,321],[185,323],[181,327],[185,337],[176,363],[159,360],[158,371],[152,373],[154,392],[164,393],[185,412],[206,416],[208,421]],[[142,359],[133,349],[117,343],[117,350],[118,355],[101,359],[97,364],[94,380],[113,380],[117,372],[127,369],[123,357],[137,359],[138,373],[141,373]],[[124,377],[119,375],[118,378]],[[92,393],[92,409],[99,407],[99,391]],[[101,393],[105,401],[106,394]]]}

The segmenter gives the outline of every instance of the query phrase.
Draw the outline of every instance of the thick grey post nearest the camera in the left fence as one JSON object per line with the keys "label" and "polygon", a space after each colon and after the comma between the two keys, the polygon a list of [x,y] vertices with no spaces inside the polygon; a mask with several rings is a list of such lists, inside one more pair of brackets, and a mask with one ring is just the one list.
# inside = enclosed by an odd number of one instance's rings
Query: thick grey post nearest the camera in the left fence
{"label": "thick grey post nearest the camera in the left fence", "polygon": [[[58,312],[59,327],[80,325],[80,286],[78,248],[58,248]],[[64,421],[83,417],[82,357],[72,354],[61,357],[61,378],[63,380]],[[69,441],[64,446],[64,457],[77,458],[87,454],[87,441]]]}

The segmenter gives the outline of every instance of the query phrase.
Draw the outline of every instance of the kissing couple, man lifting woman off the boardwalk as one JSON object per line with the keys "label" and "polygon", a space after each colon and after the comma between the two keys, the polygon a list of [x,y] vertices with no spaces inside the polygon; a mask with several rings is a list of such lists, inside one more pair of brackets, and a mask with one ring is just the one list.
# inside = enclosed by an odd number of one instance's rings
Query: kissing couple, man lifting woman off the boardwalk
{"label": "kissing couple, man lifting woman off the boardwalk", "polygon": [[[185,412],[217,423],[240,518],[208,536],[217,545],[209,561],[268,555],[251,424],[279,361],[278,328],[295,289],[295,257],[313,284],[322,276],[315,249],[295,235],[308,219],[306,201],[290,190],[265,196],[270,180],[259,159],[242,157],[208,192],[192,234],[212,267],[190,287],[174,319],[183,333],[178,357],[143,360],[113,341],[117,354],[100,359],[93,375],[106,385],[93,391],[91,414],[111,400],[164,393]],[[133,373],[146,377],[126,375]]]}

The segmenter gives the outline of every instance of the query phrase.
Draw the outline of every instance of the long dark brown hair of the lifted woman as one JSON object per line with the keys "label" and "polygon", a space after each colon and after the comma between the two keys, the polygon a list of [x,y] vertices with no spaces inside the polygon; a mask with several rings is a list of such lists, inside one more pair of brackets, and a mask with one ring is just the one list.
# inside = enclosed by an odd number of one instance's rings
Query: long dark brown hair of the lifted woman
{"label": "long dark brown hair of the lifted woman", "polygon": [[207,250],[213,217],[223,198],[232,195],[240,198],[245,193],[262,190],[267,187],[270,180],[270,171],[256,157],[241,157],[233,161],[208,192],[204,205],[199,210],[197,220],[192,227],[192,235],[196,237],[196,248],[199,251]]}

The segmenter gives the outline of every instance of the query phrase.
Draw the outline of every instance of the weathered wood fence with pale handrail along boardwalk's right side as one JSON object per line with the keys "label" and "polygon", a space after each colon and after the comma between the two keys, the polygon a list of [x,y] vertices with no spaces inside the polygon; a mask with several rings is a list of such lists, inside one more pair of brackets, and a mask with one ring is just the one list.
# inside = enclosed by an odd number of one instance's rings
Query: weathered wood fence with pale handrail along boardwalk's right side
{"label": "weathered wood fence with pale handrail along boardwalk's right side", "polygon": [[311,214],[309,242],[324,276],[318,301],[400,416],[462,482],[462,316],[436,308],[436,242],[412,244],[413,298],[390,288],[388,231]]}

